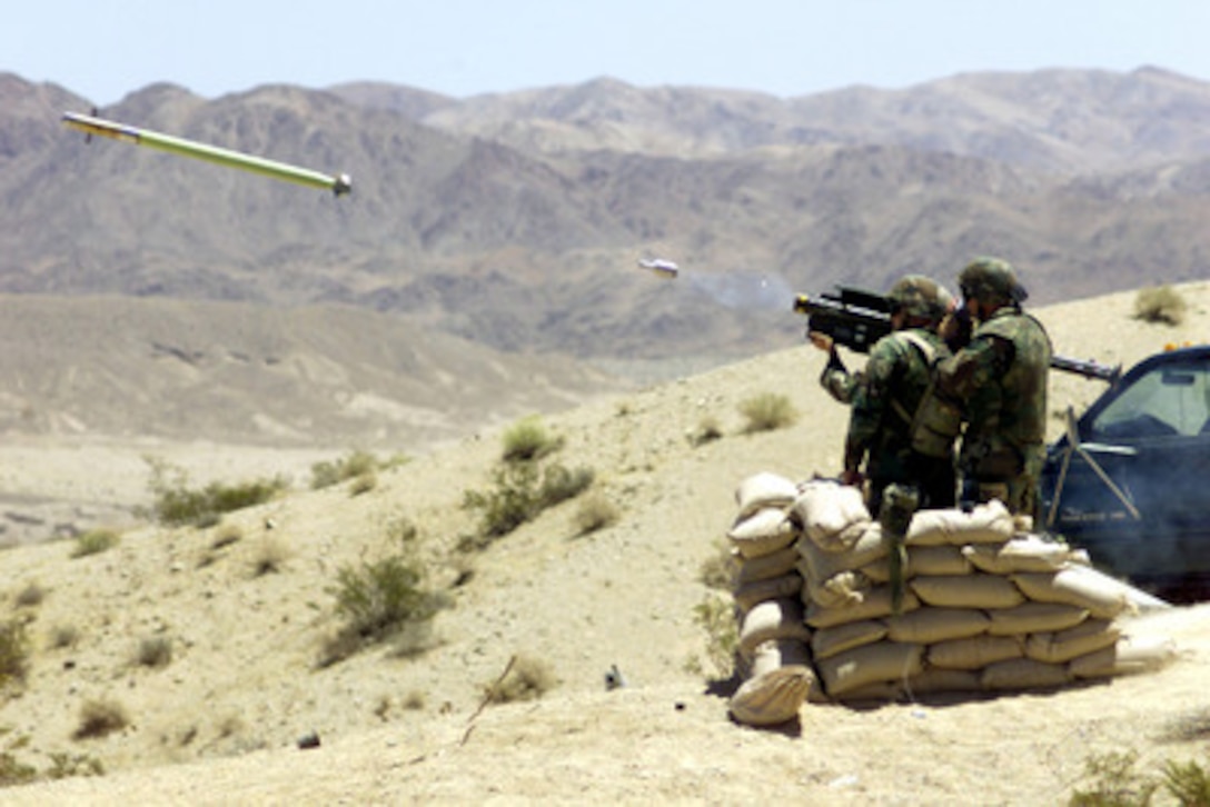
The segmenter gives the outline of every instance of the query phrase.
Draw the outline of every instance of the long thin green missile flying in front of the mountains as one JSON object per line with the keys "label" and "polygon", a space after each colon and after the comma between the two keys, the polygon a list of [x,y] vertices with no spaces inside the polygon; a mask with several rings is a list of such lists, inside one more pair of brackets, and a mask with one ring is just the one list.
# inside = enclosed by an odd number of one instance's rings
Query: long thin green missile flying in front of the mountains
{"label": "long thin green missile flying in front of the mountains", "polygon": [[171,134],[151,132],[150,129],[140,129],[134,126],[126,126],[125,123],[115,123],[114,121],[106,121],[92,115],[63,113],[63,125],[90,136],[97,134],[114,140],[122,140],[123,143],[146,145],[169,154],[217,162],[220,166],[250,171],[265,177],[272,177],[273,179],[284,179],[286,181],[307,185],[309,188],[330,190],[336,196],[342,196],[353,190],[353,180],[350,179],[348,174],[329,177],[318,171],[299,168],[298,166],[277,162],[276,160],[254,157],[249,154],[220,149],[214,145],[172,137]]}

